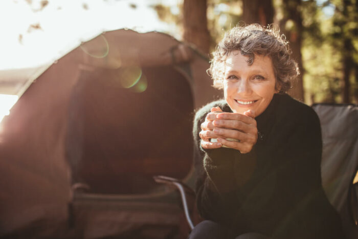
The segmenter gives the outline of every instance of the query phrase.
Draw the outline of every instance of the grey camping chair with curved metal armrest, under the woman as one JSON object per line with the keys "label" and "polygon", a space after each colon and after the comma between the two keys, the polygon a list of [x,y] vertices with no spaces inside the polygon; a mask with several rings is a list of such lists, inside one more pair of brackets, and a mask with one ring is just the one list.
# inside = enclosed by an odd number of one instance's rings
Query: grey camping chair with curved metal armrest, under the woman
{"label": "grey camping chair with curved metal armrest, under the woman", "polygon": [[[312,105],[321,122],[322,184],[328,200],[341,216],[347,239],[358,238],[358,105],[314,104]],[[183,208],[190,229],[194,204],[188,205],[187,198],[194,194],[183,182],[165,176],[154,180],[176,187],[181,193]],[[186,193],[190,191],[190,193]]]}

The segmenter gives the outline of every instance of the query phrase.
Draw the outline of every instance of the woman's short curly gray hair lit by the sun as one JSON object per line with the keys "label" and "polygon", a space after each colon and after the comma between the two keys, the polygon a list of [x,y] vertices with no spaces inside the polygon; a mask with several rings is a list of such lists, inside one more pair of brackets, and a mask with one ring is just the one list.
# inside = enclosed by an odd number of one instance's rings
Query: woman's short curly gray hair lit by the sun
{"label": "woman's short curly gray hair lit by the sun", "polygon": [[272,26],[258,24],[236,26],[228,31],[213,52],[208,74],[214,80],[214,87],[222,89],[226,57],[238,50],[248,56],[248,64],[254,62],[255,55],[269,56],[274,67],[276,90],[284,93],[291,88],[292,81],[300,74],[297,63],[292,59],[286,37]]}

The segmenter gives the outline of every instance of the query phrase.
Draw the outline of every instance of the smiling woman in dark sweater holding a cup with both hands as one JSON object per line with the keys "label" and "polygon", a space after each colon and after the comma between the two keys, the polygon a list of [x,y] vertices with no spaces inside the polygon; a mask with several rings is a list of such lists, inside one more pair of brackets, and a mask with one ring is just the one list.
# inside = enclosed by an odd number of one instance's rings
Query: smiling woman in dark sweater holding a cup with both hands
{"label": "smiling woman in dark sweater holding a cup with both hands", "polygon": [[319,119],[285,94],[299,72],[284,36],[238,26],[213,56],[209,73],[225,100],[195,116],[205,221],[189,238],[344,238],[321,185]]}

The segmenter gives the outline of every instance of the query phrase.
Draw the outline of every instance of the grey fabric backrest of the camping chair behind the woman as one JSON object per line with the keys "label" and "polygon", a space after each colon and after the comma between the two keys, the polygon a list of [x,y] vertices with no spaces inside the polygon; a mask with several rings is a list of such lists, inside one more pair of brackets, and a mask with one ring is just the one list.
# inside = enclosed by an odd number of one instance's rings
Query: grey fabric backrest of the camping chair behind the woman
{"label": "grey fabric backrest of the camping chair behind the woman", "polygon": [[[322,128],[322,184],[339,212],[348,238],[358,238],[349,208],[349,187],[358,168],[358,106],[315,104]],[[358,206],[358,205],[357,205]]]}

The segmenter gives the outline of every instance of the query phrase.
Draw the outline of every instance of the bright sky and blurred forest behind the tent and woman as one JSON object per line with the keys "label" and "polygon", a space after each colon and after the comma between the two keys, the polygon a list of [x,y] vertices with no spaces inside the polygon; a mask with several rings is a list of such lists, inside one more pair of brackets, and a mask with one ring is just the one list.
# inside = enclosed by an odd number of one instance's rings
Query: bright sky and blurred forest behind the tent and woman
{"label": "bright sky and blurred forest behind the tent and woman", "polygon": [[295,98],[357,103],[357,9],[357,0],[1,1],[0,115],[26,90],[18,69],[51,64],[103,31],[165,32],[209,56],[239,21],[275,24],[286,35],[301,68]]}

